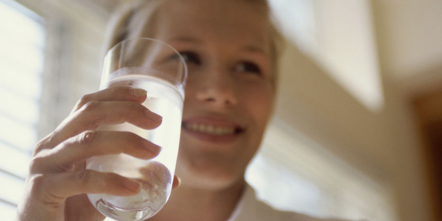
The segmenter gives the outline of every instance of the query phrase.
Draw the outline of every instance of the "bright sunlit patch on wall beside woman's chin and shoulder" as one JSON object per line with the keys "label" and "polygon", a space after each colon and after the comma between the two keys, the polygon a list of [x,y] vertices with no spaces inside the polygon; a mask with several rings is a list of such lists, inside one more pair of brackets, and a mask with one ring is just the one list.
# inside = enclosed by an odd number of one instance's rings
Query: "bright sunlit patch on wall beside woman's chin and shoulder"
{"label": "bright sunlit patch on wall beside woman's chin and shoulder", "polygon": [[278,209],[351,220],[398,220],[389,187],[278,120],[268,128],[246,180],[259,198]]}

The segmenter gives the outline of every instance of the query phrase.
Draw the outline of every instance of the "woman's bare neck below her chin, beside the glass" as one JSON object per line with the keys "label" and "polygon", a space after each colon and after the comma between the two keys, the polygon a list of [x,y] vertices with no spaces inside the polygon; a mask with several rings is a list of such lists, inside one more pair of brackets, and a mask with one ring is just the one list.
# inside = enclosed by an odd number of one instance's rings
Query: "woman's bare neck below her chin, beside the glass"
{"label": "woman's bare neck below her chin, beside the glass", "polygon": [[227,220],[240,199],[245,181],[221,190],[182,185],[172,191],[164,208],[149,221]]}

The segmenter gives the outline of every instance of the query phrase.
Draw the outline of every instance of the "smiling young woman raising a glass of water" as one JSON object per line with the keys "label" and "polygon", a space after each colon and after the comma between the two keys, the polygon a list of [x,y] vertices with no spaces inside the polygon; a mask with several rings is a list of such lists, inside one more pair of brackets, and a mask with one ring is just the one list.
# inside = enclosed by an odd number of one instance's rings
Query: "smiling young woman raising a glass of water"
{"label": "smiling young woman raising a glass of water", "polygon": [[[255,199],[244,180],[272,112],[278,34],[265,0],[140,0],[113,17],[107,48],[148,37],[176,48],[189,76],[183,107],[175,188],[149,220],[319,220],[281,212]],[[103,220],[86,193],[133,195],[131,179],[84,169],[96,155],[152,158],[158,148],[124,132],[95,131],[127,121],[155,128],[161,117],[140,103],[145,91],[115,87],[85,95],[33,154],[19,220]],[[223,133],[214,133],[214,131]],[[124,146],[124,149],[121,148]],[[174,180],[177,186],[178,179]]]}

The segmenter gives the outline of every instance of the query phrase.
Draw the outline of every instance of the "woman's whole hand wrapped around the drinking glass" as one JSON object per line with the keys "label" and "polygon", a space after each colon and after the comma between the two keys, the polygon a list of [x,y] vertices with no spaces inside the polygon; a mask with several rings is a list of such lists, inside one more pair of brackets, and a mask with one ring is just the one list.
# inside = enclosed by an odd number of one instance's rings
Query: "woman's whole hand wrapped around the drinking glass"
{"label": "woman's whole hand wrapped around the drinking glass", "polygon": [[[35,147],[26,180],[26,195],[41,211],[60,212],[66,198],[84,193],[127,196],[139,182],[114,174],[85,170],[85,160],[107,154],[141,159],[158,155],[159,146],[130,132],[98,131],[106,124],[131,123],[146,130],[162,118],[141,105],[146,91],[116,86],[85,95],[60,126]],[[72,199],[72,198],[69,198]],[[30,205],[30,204],[29,204]],[[34,208],[36,208],[34,207]]]}

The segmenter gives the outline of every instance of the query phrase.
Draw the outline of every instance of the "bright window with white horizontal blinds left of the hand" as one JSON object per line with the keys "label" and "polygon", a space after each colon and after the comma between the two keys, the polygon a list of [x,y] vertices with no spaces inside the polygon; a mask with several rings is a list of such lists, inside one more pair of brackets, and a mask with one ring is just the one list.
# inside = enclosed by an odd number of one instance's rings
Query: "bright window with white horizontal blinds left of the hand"
{"label": "bright window with white horizontal blinds left of the hand", "polygon": [[0,2],[0,214],[12,220],[37,142],[45,29],[41,17]]}

